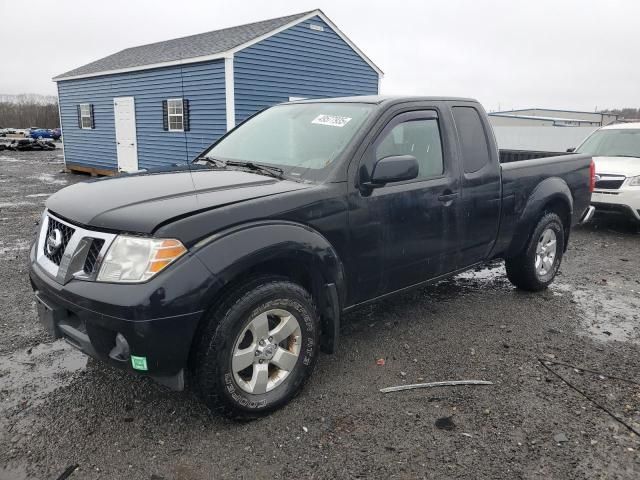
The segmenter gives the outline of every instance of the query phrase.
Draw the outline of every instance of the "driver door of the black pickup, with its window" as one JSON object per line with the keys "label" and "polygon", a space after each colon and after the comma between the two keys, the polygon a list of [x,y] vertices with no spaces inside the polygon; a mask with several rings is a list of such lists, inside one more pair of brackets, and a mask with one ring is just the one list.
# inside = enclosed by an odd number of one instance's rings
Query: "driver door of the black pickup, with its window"
{"label": "driver door of the black pickup, with its window", "polygon": [[455,270],[459,174],[447,161],[448,150],[435,109],[396,115],[368,147],[358,169],[360,185],[389,156],[414,156],[419,172],[413,180],[360,187],[352,196],[355,303]]}

